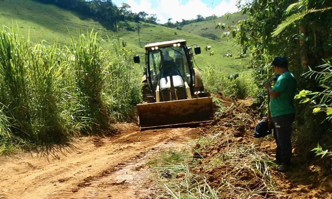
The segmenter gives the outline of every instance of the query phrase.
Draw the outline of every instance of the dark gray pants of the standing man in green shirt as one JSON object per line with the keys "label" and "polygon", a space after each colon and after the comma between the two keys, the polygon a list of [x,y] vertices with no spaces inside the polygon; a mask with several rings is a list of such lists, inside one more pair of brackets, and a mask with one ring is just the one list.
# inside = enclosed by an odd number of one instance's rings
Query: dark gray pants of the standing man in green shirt
{"label": "dark gray pants of the standing man in green shirt", "polygon": [[280,115],[272,118],[275,126],[273,136],[277,143],[276,160],[282,164],[290,165],[291,159],[291,124],[295,114]]}

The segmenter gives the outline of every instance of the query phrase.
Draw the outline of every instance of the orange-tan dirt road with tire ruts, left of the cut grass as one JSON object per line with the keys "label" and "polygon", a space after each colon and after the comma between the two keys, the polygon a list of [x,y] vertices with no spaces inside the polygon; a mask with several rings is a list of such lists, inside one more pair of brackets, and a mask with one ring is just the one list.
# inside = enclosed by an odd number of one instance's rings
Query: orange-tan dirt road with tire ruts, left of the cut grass
{"label": "orange-tan dirt road with tire ruts, left of the cut grass", "polygon": [[161,149],[182,148],[193,128],[140,130],[118,124],[110,137],[0,160],[0,198],[147,198],[155,188],[146,162]]}

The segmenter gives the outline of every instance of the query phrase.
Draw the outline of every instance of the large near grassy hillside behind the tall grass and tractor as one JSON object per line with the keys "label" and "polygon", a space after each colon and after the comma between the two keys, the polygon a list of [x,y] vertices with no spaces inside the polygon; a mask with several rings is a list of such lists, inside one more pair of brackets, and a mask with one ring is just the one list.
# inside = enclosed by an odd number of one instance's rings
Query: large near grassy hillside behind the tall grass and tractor
{"label": "large near grassy hillside behind the tall grass and tractor", "polygon": [[[87,19],[72,11],[64,10],[54,5],[41,4],[32,0],[0,1],[0,25],[7,27],[17,26],[24,35],[30,34],[31,40],[37,42],[45,40],[50,44],[56,41],[62,44],[69,43],[70,34],[77,35],[80,30],[82,33],[86,33],[87,30],[94,28],[96,31],[102,33],[105,39],[103,47],[108,49],[112,47],[107,42],[106,36],[106,34],[112,35],[113,33],[111,25],[101,24],[98,21]],[[142,46],[150,42],[179,38],[186,39],[188,45],[198,44],[201,46],[202,54],[195,58],[196,63],[202,69],[209,64],[225,72],[232,73],[241,70],[245,61],[236,59],[234,58],[235,56],[233,58],[224,57],[226,52],[236,54],[236,49],[229,42],[216,42],[215,40],[204,37],[204,35],[199,36],[194,33],[159,25],[140,23],[139,26]],[[127,47],[137,52],[144,52],[144,49],[140,48],[138,34],[135,31],[137,23],[128,22],[127,26],[121,27],[123,28],[119,29],[118,34],[125,40]],[[133,31],[128,31],[129,29]],[[218,32],[220,33],[221,31],[218,30]],[[214,51],[213,56],[209,56],[209,52],[203,50],[207,45],[212,46],[211,51]]]}

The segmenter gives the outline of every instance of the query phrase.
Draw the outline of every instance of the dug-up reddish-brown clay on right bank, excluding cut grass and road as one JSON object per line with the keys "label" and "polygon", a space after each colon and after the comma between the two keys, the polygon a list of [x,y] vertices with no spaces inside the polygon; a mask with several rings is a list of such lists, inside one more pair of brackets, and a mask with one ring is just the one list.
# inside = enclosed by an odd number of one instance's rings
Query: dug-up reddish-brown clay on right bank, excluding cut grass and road
{"label": "dug-up reddish-brown clay on right bank, excluding cut grass and road", "polygon": [[[214,121],[212,126],[205,125],[202,131],[208,134],[215,134],[223,132],[218,141],[203,149],[200,154],[204,160],[200,162],[201,165],[196,166],[194,170],[207,177],[208,183],[213,188],[218,188],[223,185],[220,181],[222,176],[232,170],[230,166],[222,165],[212,170],[206,170],[210,161],[217,155],[222,154],[229,148],[236,147],[236,145],[250,145],[253,141],[253,133],[257,122],[261,119],[257,111],[256,104],[251,99],[246,100],[232,100],[222,95],[218,98],[226,107],[226,110]],[[262,143],[260,152],[263,152],[263,157],[269,160],[274,159],[276,144],[273,136],[265,138]],[[294,152],[294,150],[293,150]],[[271,166],[270,172],[272,181],[277,186],[279,194],[262,194],[262,196],[252,198],[280,198],[280,199],[298,199],[298,198],[312,198],[312,199],[331,199],[332,198],[332,172],[327,171],[326,168],[317,166],[316,162],[321,161],[319,158],[305,163],[297,154],[293,154],[292,167],[286,173],[281,173]],[[244,158],[244,157],[243,157]],[[206,166],[207,165],[207,166]],[[326,165],[330,168],[330,165]],[[242,187],[247,190],[261,188],[261,176],[255,176],[250,170],[242,170],[236,178],[238,184],[235,186]],[[221,198],[227,194],[221,193]],[[264,197],[263,197],[264,196]]]}

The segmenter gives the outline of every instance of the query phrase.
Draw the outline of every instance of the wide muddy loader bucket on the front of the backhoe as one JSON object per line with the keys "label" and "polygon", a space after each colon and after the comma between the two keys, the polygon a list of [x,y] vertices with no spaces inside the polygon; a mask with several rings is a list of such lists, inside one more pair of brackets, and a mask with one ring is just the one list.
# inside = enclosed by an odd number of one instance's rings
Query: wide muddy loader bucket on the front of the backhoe
{"label": "wide muddy loader bucket on the front of the backhoe", "polygon": [[138,104],[141,129],[213,121],[212,98]]}

